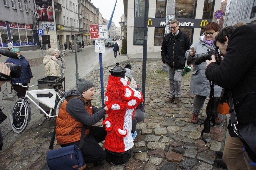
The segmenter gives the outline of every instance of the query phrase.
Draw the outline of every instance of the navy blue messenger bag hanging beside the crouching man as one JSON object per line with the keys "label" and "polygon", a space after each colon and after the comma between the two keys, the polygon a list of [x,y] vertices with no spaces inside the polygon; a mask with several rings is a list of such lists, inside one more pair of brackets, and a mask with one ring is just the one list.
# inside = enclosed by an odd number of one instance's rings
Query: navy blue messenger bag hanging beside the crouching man
{"label": "navy blue messenger bag hanging beside the crouching man", "polygon": [[[48,151],[46,154],[47,165],[50,170],[83,170],[86,168],[81,148],[84,145],[85,125],[83,125],[79,147],[77,145],[69,145],[63,148]],[[55,139],[55,128],[50,141],[49,149],[53,149]]]}

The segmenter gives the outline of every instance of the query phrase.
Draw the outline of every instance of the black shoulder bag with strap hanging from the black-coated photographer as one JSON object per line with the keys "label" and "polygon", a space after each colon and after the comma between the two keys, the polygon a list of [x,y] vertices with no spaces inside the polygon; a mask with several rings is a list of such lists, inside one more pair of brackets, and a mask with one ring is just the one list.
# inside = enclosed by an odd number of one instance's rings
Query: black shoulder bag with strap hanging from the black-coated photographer
{"label": "black shoulder bag with strap hanging from the black-coated photographer", "polygon": [[[237,118],[236,118],[236,112],[234,108],[233,98],[231,90],[228,90],[228,100],[229,100],[229,112],[230,112],[230,122],[231,126],[234,129],[234,132],[236,135],[241,139],[241,141],[244,144],[243,151],[244,156],[247,159],[245,155],[245,151],[247,152],[249,158],[253,162],[249,162],[250,165],[256,166],[256,127],[254,126],[254,123],[248,124],[245,127],[242,127],[240,129],[236,128],[236,125],[238,124]],[[254,121],[255,122],[255,121]]]}

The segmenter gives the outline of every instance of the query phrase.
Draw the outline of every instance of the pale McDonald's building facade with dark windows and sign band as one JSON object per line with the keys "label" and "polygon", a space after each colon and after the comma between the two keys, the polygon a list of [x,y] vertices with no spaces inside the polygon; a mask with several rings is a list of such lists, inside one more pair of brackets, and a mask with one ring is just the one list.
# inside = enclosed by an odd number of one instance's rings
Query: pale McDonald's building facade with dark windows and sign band
{"label": "pale McDonald's building facade with dark windows and sign band", "polygon": [[[127,28],[127,54],[142,53],[145,0],[123,0],[123,4],[126,23],[121,26],[123,31],[124,26]],[[169,18],[179,20],[180,30],[188,34],[191,43],[199,40],[204,26],[217,21],[214,13],[220,7],[221,0],[150,0],[147,51],[161,51]]]}

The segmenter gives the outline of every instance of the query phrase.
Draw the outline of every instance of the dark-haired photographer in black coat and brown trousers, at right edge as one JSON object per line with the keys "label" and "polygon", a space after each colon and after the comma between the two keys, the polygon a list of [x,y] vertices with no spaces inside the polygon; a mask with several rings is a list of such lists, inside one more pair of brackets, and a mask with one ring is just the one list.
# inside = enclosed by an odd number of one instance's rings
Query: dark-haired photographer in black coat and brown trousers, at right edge
{"label": "dark-haired photographer in black coat and brown trousers, at right edge", "polygon": [[[206,60],[206,77],[216,85],[226,88],[223,97],[228,100],[227,91],[232,92],[234,109],[239,130],[256,119],[256,25],[228,26],[215,37],[215,45],[224,57],[220,65]],[[223,98],[224,99],[224,98]],[[223,161],[228,169],[256,169],[248,163],[254,161],[256,155],[249,150],[243,155],[243,143],[234,133],[230,123],[229,135],[225,142]],[[249,151],[249,157],[248,153]],[[252,155],[251,155],[252,154]]]}

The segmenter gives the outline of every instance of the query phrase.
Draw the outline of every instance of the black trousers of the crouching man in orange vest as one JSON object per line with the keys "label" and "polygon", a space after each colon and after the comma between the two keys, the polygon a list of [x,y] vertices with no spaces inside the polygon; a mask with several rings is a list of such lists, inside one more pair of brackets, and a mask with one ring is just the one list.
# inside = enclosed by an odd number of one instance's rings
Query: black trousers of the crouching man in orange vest
{"label": "black trousers of the crouching man in orange vest", "polygon": [[[105,160],[106,152],[99,145],[99,142],[105,140],[107,131],[104,127],[91,126],[89,135],[84,139],[84,146],[81,149],[86,163],[99,163]],[[61,145],[61,147],[69,145],[78,145],[80,141]]]}

